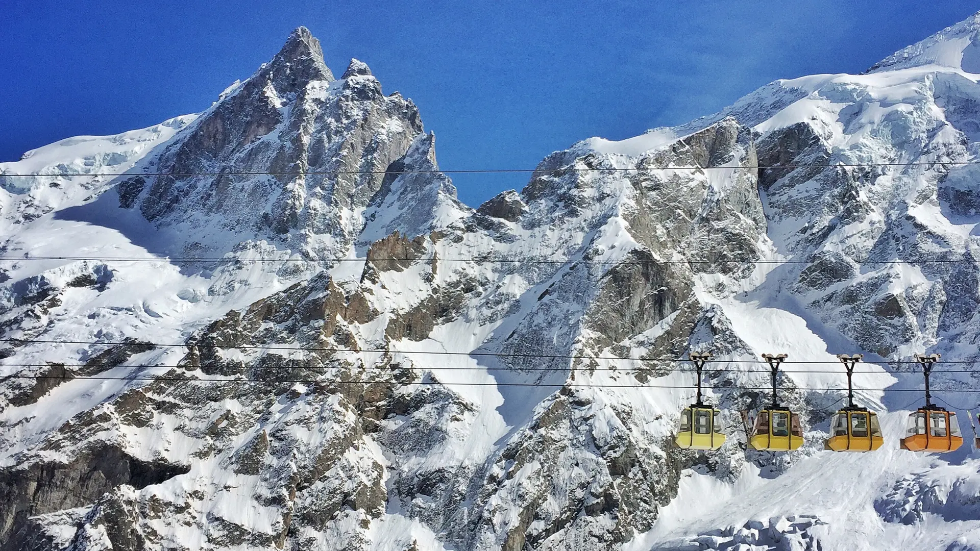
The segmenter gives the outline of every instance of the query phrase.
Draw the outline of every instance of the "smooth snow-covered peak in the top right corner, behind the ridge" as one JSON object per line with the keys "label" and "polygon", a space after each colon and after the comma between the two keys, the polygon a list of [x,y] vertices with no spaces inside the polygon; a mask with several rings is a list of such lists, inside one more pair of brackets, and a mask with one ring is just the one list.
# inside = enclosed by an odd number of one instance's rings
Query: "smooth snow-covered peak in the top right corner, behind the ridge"
{"label": "smooth snow-covered peak in the top right corner, behind the ridge", "polygon": [[980,73],[980,12],[872,65],[865,73],[880,73],[937,65]]}

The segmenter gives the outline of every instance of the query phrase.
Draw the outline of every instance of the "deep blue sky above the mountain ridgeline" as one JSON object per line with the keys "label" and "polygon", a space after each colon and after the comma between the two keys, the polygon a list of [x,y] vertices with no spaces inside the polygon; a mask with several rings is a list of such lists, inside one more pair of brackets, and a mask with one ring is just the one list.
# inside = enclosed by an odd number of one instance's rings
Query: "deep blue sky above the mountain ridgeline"
{"label": "deep blue sky above the mountain ridgeline", "polygon": [[[533,168],[592,135],[707,115],[776,78],[856,73],[980,10],[946,0],[0,0],[0,161],[201,111],[306,25],[327,65],[413,98],[443,169]],[[524,175],[458,175],[476,205]]]}

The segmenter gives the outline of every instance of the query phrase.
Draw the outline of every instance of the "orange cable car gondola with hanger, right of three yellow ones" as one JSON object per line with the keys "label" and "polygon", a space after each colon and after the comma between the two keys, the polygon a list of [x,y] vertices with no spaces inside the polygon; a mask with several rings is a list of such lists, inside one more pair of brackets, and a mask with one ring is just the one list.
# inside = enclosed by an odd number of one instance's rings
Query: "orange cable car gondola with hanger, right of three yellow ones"
{"label": "orange cable car gondola with hanger, right of three yellow ones", "polygon": [[913,452],[952,452],[963,443],[956,414],[933,404],[929,393],[929,375],[939,361],[939,354],[916,354],[915,360],[922,366],[925,376],[925,406],[908,414],[906,437],[902,438],[901,447]]}

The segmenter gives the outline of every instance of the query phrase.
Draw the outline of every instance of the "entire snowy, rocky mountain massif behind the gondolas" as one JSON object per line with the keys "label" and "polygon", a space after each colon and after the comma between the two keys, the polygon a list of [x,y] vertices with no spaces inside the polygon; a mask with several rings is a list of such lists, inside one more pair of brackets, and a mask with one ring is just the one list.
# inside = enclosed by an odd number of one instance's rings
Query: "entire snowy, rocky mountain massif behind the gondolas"
{"label": "entire snowy, rocky mountain massif behind the gondolas", "polygon": [[[475,210],[305,28],[201,114],[0,165],[0,549],[980,549],[977,452],[897,449],[911,355],[980,360],[978,29]],[[716,452],[672,440],[692,350]],[[806,444],[746,450],[779,352]],[[886,444],[823,451],[857,352]]]}

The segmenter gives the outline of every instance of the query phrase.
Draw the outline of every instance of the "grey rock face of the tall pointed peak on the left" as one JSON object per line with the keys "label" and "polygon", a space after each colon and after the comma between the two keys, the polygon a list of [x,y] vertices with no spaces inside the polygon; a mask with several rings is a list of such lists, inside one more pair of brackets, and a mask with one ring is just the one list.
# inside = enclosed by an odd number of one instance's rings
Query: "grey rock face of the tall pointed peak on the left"
{"label": "grey rock face of the tall pointed peak on the left", "polygon": [[[357,60],[340,80],[319,41],[296,29],[270,63],[239,84],[154,160],[120,185],[120,205],[197,237],[182,251],[219,256],[266,237],[311,255],[336,255],[361,227],[355,212],[422,131],[418,110],[385,96]],[[202,174],[203,173],[203,174]],[[271,174],[266,174],[271,173]],[[214,244],[214,233],[233,231]]]}

